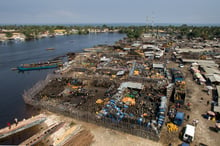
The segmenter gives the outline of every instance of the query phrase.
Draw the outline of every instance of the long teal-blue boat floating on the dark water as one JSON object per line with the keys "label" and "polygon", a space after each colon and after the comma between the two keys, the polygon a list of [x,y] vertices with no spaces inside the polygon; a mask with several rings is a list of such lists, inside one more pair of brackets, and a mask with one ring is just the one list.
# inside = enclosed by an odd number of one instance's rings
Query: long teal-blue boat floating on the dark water
{"label": "long teal-blue boat floating on the dark water", "polygon": [[62,66],[61,61],[48,61],[43,63],[21,64],[17,67],[19,71],[51,69]]}

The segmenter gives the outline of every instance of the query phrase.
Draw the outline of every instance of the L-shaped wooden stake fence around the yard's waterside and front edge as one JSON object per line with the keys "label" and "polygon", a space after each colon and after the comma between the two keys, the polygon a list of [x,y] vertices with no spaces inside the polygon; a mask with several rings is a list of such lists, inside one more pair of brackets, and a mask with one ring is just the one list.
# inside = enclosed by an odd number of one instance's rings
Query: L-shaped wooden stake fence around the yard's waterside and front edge
{"label": "L-shaped wooden stake fence around the yard's waterside and front edge", "polygon": [[53,104],[50,101],[37,101],[34,99],[35,95],[41,91],[52,79],[57,77],[61,77],[58,75],[48,75],[44,81],[39,81],[36,83],[33,88],[25,91],[23,94],[24,101],[27,104],[33,105],[38,108],[44,108],[52,112],[61,113],[66,116],[73,117],[78,120],[82,120],[85,122],[93,123],[99,126],[103,126],[106,128],[115,129],[118,131],[126,132],[129,134],[133,134],[136,136],[140,136],[143,138],[148,138],[150,140],[159,141],[160,134],[156,130],[152,128],[147,128],[144,125],[132,124],[129,121],[116,121],[110,118],[103,117],[102,119],[98,119],[95,113],[90,113],[88,111],[80,111],[74,107],[66,106],[62,103]]}

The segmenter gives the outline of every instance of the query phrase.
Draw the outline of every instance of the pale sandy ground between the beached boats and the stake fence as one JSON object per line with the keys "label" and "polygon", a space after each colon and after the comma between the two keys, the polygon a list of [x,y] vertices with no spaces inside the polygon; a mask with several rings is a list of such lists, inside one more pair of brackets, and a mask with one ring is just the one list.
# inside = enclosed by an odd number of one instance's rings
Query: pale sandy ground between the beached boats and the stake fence
{"label": "pale sandy ground between the beached boats and the stake fence", "polygon": [[[73,127],[81,127],[81,130],[76,132],[77,134],[73,137],[73,139],[68,143],[69,145],[92,145],[92,146],[162,146],[162,144],[158,142],[154,142],[148,139],[144,139],[141,137],[133,136],[127,133],[122,133],[119,131],[107,129],[104,127],[100,127],[94,124],[74,120],[69,117],[65,117],[62,115],[57,115],[54,113],[47,112],[48,120],[45,122],[47,125],[50,125],[54,122],[65,121],[67,124],[73,122]],[[56,133],[52,134],[49,139],[46,139],[43,144],[47,145],[48,142],[56,143],[56,141],[62,139],[63,133],[68,130],[68,126],[66,128],[61,128]],[[42,144],[42,143],[41,143]],[[67,144],[67,145],[68,145]]]}

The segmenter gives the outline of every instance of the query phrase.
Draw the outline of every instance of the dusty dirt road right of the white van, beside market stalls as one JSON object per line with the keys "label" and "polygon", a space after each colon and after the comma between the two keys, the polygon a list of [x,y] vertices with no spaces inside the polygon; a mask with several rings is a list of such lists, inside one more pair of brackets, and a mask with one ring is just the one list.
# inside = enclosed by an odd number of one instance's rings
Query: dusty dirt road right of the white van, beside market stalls
{"label": "dusty dirt road right of the white van, beside market stalls", "polygon": [[[186,70],[187,68],[184,68]],[[185,71],[186,72],[186,71]],[[188,72],[189,73],[189,72]],[[186,76],[186,83],[188,90],[190,92],[191,98],[188,99],[192,103],[192,110],[190,114],[190,123],[193,119],[198,119],[199,124],[196,127],[196,136],[193,144],[204,143],[210,146],[218,146],[220,143],[219,134],[211,131],[210,127],[214,127],[215,121],[209,121],[202,117],[208,110],[211,110],[211,106],[207,106],[207,101],[212,101],[211,95],[208,95],[203,91],[204,86],[198,85],[192,79],[192,75],[188,74]],[[200,98],[203,97],[203,101],[200,102]]]}

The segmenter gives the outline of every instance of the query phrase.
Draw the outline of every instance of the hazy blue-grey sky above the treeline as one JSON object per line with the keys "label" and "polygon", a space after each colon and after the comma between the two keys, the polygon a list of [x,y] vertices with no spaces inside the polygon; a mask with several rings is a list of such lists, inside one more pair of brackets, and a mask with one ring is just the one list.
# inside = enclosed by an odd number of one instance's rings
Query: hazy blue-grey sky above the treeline
{"label": "hazy blue-grey sky above the treeline", "polygon": [[220,24],[220,0],[0,0],[0,23]]}

